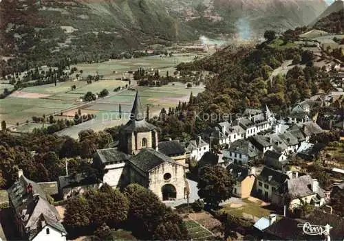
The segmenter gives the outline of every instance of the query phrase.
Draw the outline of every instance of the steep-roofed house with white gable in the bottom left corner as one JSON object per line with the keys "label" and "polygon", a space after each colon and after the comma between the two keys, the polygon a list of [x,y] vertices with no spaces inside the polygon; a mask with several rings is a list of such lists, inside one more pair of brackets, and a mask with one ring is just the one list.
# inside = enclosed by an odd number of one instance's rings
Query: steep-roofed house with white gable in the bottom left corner
{"label": "steep-roofed house with white gable in the bottom left corner", "polygon": [[8,196],[14,221],[24,240],[66,240],[67,232],[56,208],[49,203],[49,196],[38,183],[27,179],[23,170],[19,170],[19,179],[8,189]]}

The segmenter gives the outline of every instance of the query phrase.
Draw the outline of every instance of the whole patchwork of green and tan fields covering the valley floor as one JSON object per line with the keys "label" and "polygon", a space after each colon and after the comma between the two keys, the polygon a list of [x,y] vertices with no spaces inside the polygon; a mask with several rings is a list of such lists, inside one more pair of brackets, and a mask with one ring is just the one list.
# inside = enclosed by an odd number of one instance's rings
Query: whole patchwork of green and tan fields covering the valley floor
{"label": "whole patchwork of green and tan fields covering the valley floor", "polygon": [[[78,69],[83,70],[80,73],[79,80],[59,82],[56,87],[54,84],[44,84],[41,86],[27,87],[15,91],[12,95],[0,100],[0,121],[5,120],[8,126],[15,125],[17,122],[24,123],[31,120],[32,116],[56,115],[56,119],[72,116],[78,111],[83,113],[93,113],[96,118],[91,122],[85,122],[72,128],[67,128],[61,132],[61,135],[71,135],[77,137],[80,130],[92,128],[94,130],[103,130],[103,128],[116,126],[127,122],[125,119],[118,119],[118,109],[121,105],[122,113],[129,113],[133,103],[135,91],[125,90],[114,92],[116,87],[125,87],[129,82],[115,80],[127,74],[127,71],[135,71],[140,67],[158,68],[160,74],[164,76],[166,71],[173,75],[175,65],[180,62],[189,62],[193,60],[195,54],[176,54],[172,57],[149,56],[144,58],[132,58],[123,60],[109,60],[102,63],[80,64],[75,65]],[[74,67],[74,66],[72,66]],[[114,71],[117,71],[114,73]],[[103,76],[102,80],[87,84],[80,78],[86,78],[89,74]],[[72,91],[72,85],[76,85],[76,90]],[[0,91],[3,87],[10,87],[8,84],[1,84]],[[8,88],[10,89],[10,88]],[[109,96],[98,99],[95,102],[80,102],[80,97],[87,91],[100,93],[103,89],[109,91]],[[179,100],[186,102],[189,100],[191,91],[194,95],[204,90],[204,87],[193,87],[186,89],[182,83],[169,84],[163,87],[139,87],[141,102],[146,108],[150,106],[151,116],[158,115],[162,107],[169,108],[178,105]],[[62,116],[58,116],[63,113]],[[23,127],[23,131],[31,130],[31,126]],[[21,128],[19,128],[21,130]]]}

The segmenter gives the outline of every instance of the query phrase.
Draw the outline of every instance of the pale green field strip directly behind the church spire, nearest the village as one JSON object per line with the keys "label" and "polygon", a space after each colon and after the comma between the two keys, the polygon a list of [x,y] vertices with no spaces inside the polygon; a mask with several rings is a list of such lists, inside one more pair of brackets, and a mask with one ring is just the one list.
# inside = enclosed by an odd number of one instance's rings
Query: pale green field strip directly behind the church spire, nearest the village
{"label": "pale green field strip directly behind the church spire, nearest the village", "polygon": [[[149,106],[151,117],[159,115],[162,108],[168,109],[169,107],[177,106],[179,100],[182,102],[189,101],[191,92],[193,95],[197,95],[204,91],[204,87],[202,86],[186,89],[185,84],[180,82],[173,84],[170,83],[162,87],[138,87],[141,104],[144,109],[147,108],[147,105]],[[61,130],[58,132],[58,135],[69,135],[76,138],[80,130],[92,128],[98,131],[127,123],[135,94],[136,91],[125,90],[116,95],[87,104],[81,112],[87,113],[92,111],[96,115],[96,118],[92,119],[92,121]],[[119,119],[119,105],[122,110],[122,119]],[[69,111],[69,113],[76,111],[78,111],[77,108]],[[66,115],[66,113],[63,113],[63,115]]]}

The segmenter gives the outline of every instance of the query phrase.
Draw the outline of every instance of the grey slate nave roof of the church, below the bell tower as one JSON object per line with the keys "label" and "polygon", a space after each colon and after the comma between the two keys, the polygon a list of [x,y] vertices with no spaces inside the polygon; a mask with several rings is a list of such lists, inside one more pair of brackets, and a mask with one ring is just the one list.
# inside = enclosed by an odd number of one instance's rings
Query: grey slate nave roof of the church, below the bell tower
{"label": "grey slate nave roof of the church, below the bell tower", "polygon": [[153,149],[142,149],[138,154],[131,157],[129,162],[135,165],[136,168],[142,170],[142,172],[149,172],[150,170],[158,167],[164,162],[173,163],[175,165],[182,165],[177,161],[171,159],[171,157],[166,156],[161,152],[157,152]]}

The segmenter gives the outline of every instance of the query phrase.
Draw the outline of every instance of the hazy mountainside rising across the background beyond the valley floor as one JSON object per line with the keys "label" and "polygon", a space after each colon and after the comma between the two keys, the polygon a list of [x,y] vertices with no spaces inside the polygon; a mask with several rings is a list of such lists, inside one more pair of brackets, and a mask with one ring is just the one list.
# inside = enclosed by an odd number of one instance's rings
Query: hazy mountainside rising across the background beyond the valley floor
{"label": "hazy mountainside rising across the background beyond the valley floor", "polygon": [[0,55],[85,61],[202,35],[250,38],[306,25],[325,8],[324,0],[2,0]]}

